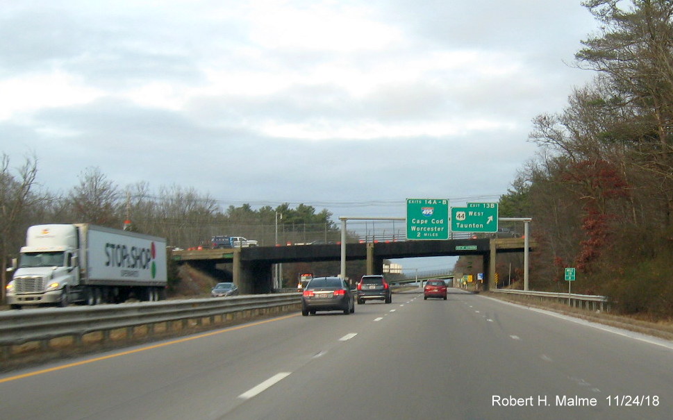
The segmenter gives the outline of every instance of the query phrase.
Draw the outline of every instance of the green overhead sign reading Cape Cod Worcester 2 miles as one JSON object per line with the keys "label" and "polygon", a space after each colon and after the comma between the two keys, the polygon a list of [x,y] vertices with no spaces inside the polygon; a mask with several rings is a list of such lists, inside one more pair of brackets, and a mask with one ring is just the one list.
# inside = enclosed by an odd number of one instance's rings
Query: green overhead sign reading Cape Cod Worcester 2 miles
{"label": "green overhead sign reading Cape Cod Worcester 2 miles", "polygon": [[449,200],[406,199],[406,239],[449,239]]}

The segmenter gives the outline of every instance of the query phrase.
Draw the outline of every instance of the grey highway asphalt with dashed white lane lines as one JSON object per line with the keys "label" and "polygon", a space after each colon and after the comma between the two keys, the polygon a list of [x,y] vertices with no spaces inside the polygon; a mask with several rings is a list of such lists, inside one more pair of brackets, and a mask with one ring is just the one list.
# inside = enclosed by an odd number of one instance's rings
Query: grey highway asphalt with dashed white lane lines
{"label": "grey highway asphalt with dashed white lane lines", "polygon": [[449,290],[12,371],[0,418],[672,418],[673,342]]}

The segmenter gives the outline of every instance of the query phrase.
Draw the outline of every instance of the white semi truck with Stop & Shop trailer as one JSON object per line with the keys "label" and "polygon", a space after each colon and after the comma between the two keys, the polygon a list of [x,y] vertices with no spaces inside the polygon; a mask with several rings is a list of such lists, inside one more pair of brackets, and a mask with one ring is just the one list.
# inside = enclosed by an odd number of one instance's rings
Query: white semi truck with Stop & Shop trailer
{"label": "white semi truck with Stop & Shop trailer", "polygon": [[165,299],[166,240],[90,224],[31,226],[6,289],[10,308]]}

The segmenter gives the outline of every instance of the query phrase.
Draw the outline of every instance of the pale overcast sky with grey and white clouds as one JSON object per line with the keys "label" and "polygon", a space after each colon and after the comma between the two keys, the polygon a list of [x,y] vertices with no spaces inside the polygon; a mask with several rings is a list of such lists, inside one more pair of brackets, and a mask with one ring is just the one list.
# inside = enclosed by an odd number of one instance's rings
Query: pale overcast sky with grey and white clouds
{"label": "pale overcast sky with grey and white clouds", "polygon": [[595,28],[580,0],[0,0],[1,151],[52,192],[98,167],[224,208],[497,201]]}

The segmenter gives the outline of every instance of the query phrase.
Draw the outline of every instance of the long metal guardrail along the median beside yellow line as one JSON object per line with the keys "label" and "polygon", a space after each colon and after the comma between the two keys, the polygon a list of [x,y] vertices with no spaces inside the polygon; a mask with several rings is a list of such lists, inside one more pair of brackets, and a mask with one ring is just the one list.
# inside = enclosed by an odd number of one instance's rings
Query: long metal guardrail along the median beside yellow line
{"label": "long metal guardrail along the median beside yellow line", "polygon": [[233,319],[227,316],[245,311],[266,313],[272,308],[288,310],[299,303],[301,295],[287,293],[3,311],[0,313],[0,346],[7,348],[35,341],[48,346],[49,340],[65,336],[72,336],[81,343],[84,335],[97,331],[108,336],[110,331],[119,328],[186,322],[190,319],[200,324],[204,318]]}

